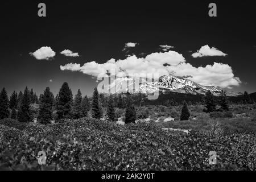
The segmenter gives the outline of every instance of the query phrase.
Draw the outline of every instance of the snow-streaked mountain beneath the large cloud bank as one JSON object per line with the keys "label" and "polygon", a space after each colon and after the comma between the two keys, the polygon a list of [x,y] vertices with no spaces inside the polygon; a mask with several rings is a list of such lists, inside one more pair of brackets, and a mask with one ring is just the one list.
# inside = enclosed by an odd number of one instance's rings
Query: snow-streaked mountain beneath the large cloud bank
{"label": "snow-streaked mountain beneath the large cloud bank", "polygon": [[[138,82],[140,83],[138,85]],[[138,86],[135,86],[137,83]],[[117,78],[109,87],[114,93],[131,94],[145,93],[152,94],[154,92],[161,92],[163,94],[168,92],[177,93],[190,93],[190,94],[205,94],[208,90],[214,95],[218,95],[221,89],[216,86],[204,86],[197,84],[188,78],[178,78],[173,75],[164,75],[157,81],[147,82],[145,79],[138,80],[137,78]],[[234,96],[236,94],[228,93],[228,96]]]}

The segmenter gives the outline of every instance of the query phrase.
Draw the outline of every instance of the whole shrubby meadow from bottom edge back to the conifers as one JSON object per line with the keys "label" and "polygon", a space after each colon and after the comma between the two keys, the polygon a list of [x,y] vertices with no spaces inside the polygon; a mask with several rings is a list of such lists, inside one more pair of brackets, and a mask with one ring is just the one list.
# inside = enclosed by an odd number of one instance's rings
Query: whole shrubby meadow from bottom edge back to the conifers
{"label": "whole shrubby meadow from bottom edge back to the conifers", "polygon": [[[0,170],[256,169],[255,105],[210,114],[201,105],[188,107],[188,121],[179,121],[181,106],[136,107],[137,120],[127,125],[92,119],[90,113],[49,125],[2,119]],[[116,118],[124,113],[115,109]],[[46,165],[38,164],[39,151],[46,152]],[[217,152],[216,165],[209,164],[210,151]]]}

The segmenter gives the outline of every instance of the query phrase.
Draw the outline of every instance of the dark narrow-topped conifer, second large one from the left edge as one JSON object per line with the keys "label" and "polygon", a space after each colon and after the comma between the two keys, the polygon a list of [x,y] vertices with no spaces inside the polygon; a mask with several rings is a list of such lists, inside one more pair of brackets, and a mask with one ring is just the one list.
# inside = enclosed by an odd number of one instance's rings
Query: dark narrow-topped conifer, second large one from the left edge
{"label": "dark narrow-topped conifer, second large one from the left edge", "polygon": [[18,108],[18,121],[20,122],[30,122],[32,120],[31,110],[30,110],[30,97],[27,86],[24,90],[20,106]]}

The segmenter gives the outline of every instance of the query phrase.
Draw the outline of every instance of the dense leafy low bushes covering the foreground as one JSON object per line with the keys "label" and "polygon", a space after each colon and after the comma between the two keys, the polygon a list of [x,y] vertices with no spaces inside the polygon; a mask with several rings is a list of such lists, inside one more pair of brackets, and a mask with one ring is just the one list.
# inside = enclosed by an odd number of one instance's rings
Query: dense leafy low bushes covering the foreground
{"label": "dense leafy low bushes covering the foreground", "polygon": [[[172,133],[154,123],[120,126],[82,118],[40,125],[0,121],[0,169],[255,170],[255,134]],[[36,156],[45,151],[47,165]],[[218,164],[210,166],[209,152]]]}

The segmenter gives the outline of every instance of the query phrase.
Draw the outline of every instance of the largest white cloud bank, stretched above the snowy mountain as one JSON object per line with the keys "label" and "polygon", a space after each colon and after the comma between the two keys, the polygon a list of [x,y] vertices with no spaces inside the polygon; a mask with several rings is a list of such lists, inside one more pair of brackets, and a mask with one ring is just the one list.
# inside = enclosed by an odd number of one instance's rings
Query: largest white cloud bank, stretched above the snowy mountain
{"label": "largest white cloud bank, stretched above the snowy mountain", "polygon": [[188,77],[201,85],[238,86],[240,78],[235,77],[232,68],[228,64],[213,63],[205,67],[193,67],[187,63],[183,55],[175,51],[155,52],[146,57],[139,58],[130,56],[123,60],[110,59],[105,63],[95,61],[84,65],[69,63],[61,65],[62,71],[80,71],[94,77],[106,76],[110,70],[115,71],[117,77],[127,76],[129,73],[137,73],[146,77],[148,73],[158,73],[159,76],[173,74],[181,77]]}

